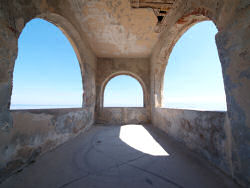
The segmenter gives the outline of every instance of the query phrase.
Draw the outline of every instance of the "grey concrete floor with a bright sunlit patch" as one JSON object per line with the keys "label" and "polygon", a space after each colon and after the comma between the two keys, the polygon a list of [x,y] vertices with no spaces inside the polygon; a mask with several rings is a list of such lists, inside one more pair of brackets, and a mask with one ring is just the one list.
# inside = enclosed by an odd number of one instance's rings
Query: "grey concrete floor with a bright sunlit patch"
{"label": "grey concrete floor with a bright sunlit patch", "polygon": [[238,185],[181,144],[164,137],[162,132],[149,126],[130,125],[94,126],[44,154],[0,187],[236,188]]}

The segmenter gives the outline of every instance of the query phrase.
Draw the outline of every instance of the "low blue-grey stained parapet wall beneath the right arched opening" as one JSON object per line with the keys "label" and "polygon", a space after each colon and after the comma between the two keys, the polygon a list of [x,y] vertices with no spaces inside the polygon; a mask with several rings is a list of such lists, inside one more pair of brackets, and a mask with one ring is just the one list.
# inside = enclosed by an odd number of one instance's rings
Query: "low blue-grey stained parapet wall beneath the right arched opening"
{"label": "low blue-grey stained parapet wall beneath the right arched opening", "polygon": [[167,135],[184,143],[224,172],[231,170],[231,138],[226,136],[229,121],[225,112],[157,108],[152,121]]}

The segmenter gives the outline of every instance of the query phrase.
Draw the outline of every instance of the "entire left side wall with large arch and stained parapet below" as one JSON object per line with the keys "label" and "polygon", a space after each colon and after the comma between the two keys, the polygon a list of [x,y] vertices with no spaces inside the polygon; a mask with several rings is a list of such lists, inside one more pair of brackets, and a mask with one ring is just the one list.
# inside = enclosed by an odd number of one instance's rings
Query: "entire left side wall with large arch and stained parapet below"
{"label": "entire left side wall with large arch and stained parapet below", "polygon": [[[68,1],[0,1],[0,181],[94,122],[96,57],[75,19],[75,9]],[[9,110],[18,38],[34,18],[53,23],[71,42],[81,67],[83,108]]]}

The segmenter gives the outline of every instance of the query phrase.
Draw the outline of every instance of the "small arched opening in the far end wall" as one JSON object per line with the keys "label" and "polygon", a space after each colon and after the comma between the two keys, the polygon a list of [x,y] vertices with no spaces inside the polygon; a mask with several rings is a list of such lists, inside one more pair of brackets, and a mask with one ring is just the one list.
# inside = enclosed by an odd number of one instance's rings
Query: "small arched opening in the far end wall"
{"label": "small arched opening in the far end wall", "polygon": [[143,107],[143,88],[128,75],[112,78],[104,90],[104,107]]}

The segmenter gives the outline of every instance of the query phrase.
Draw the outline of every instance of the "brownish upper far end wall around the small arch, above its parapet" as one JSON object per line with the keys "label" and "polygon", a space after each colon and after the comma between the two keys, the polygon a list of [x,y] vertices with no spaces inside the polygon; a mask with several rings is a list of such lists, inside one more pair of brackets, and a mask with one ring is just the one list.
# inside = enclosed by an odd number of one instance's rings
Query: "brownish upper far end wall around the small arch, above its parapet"
{"label": "brownish upper far end wall around the small arch, above its parapet", "polygon": [[107,83],[118,75],[134,77],[142,86],[144,107],[150,110],[149,60],[146,58],[98,58],[96,72],[96,113],[103,108],[104,90]]}

